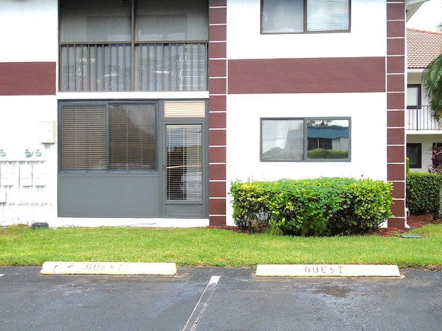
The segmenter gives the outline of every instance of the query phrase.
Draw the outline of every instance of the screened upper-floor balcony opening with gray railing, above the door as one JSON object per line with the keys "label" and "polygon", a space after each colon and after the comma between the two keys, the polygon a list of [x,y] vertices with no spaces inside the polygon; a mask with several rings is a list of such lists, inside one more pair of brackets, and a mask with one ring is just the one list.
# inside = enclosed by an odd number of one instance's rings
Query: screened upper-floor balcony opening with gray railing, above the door
{"label": "screened upper-floor balcony opening with gray railing, above the door", "polygon": [[59,90],[207,90],[207,0],[60,1]]}

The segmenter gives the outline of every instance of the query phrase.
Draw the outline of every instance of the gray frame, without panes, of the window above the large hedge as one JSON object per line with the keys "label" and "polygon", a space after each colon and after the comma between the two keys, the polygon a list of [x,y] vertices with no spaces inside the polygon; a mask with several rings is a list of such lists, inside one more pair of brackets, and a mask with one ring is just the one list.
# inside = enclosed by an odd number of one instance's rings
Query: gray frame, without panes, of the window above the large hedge
{"label": "gray frame, without panes, of the window above the large hedge", "polygon": [[[303,121],[303,132],[302,132],[302,159],[265,159],[262,157],[262,123],[266,120],[280,120],[280,121],[289,121],[289,120],[297,120]],[[309,159],[307,157],[307,147],[308,147],[308,139],[307,139],[307,126],[308,121],[334,121],[334,120],[343,120],[348,121],[348,158],[347,159]],[[352,161],[352,119],[351,117],[261,117],[260,118],[260,162],[351,162]]]}

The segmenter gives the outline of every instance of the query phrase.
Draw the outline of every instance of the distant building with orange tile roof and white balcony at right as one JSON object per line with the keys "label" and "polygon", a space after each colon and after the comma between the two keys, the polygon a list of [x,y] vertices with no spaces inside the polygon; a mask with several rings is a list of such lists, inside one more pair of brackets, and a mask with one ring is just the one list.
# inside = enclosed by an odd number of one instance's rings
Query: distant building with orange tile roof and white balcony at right
{"label": "distant building with orange tile roof and white balcony at right", "polygon": [[442,33],[407,29],[407,157],[410,171],[428,172],[442,160],[441,123],[432,119],[423,70],[442,54]]}

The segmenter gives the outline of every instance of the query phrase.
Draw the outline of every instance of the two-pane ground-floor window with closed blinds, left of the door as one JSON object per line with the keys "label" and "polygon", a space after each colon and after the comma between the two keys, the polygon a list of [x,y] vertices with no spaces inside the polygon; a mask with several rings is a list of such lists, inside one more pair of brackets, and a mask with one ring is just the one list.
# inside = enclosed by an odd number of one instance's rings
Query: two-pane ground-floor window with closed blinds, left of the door
{"label": "two-pane ground-floor window with closed blinds, left of the door", "polygon": [[61,171],[155,170],[157,103],[61,103]]}

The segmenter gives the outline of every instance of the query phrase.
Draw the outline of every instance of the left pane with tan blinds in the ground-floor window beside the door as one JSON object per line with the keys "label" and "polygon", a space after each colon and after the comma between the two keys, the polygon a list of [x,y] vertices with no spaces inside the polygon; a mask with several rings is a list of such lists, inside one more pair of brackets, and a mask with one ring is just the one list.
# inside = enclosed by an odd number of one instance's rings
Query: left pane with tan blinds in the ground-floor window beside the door
{"label": "left pane with tan blinds in the ground-floor window beside the door", "polygon": [[61,170],[105,170],[106,105],[61,107]]}

